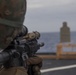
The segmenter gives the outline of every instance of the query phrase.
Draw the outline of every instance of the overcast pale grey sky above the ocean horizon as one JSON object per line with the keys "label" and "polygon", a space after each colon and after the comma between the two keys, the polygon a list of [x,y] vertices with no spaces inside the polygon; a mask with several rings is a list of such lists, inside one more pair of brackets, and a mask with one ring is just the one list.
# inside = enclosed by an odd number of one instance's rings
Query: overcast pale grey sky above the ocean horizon
{"label": "overcast pale grey sky above the ocean horizon", "polygon": [[76,0],[27,0],[24,25],[29,32],[59,32],[64,21],[76,31]]}

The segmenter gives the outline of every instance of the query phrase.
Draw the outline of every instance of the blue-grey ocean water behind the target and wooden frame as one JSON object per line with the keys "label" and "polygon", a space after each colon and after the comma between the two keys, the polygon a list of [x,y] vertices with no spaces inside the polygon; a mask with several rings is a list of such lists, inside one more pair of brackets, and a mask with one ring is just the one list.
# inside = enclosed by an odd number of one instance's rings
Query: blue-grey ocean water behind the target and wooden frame
{"label": "blue-grey ocean water behind the target and wooden frame", "polygon": [[[60,33],[59,32],[49,32],[49,33],[41,33],[41,37],[38,41],[44,42],[44,46],[38,50],[38,53],[56,53],[56,46],[60,42]],[[71,32],[71,42],[76,44],[76,32]],[[74,51],[76,48],[74,49]]]}

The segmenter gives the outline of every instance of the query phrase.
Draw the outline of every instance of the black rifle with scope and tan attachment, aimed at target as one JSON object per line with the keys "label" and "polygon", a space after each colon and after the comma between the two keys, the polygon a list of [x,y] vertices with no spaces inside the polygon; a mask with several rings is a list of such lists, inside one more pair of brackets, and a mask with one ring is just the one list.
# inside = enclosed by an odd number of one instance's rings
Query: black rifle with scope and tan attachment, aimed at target
{"label": "black rifle with scope and tan attachment, aimed at target", "polygon": [[25,61],[35,56],[40,47],[44,46],[44,43],[38,43],[40,33],[37,31],[25,34],[26,30],[23,34],[20,33],[6,49],[0,52],[0,65],[3,65],[5,68],[24,66],[29,69],[29,75],[33,75],[32,67],[28,67]]}

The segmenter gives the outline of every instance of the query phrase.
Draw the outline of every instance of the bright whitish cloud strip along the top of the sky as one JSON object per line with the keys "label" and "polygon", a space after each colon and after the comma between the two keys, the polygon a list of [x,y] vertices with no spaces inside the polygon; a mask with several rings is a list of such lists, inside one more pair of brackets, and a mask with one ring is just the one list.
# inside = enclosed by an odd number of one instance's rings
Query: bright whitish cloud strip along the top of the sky
{"label": "bright whitish cloud strip along the top of the sky", "polygon": [[28,0],[28,9],[42,8],[42,7],[55,7],[72,3],[73,0]]}

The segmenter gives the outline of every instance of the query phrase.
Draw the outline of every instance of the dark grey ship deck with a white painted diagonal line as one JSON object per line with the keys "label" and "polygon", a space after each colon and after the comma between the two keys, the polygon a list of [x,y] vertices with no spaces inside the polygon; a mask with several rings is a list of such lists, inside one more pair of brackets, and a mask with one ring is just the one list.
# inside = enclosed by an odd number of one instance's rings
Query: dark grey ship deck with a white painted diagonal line
{"label": "dark grey ship deck with a white painted diagonal line", "polygon": [[76,60],[44,59],[42,75],[76,75]]}

